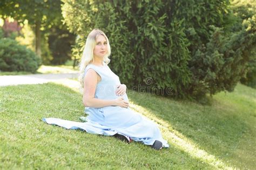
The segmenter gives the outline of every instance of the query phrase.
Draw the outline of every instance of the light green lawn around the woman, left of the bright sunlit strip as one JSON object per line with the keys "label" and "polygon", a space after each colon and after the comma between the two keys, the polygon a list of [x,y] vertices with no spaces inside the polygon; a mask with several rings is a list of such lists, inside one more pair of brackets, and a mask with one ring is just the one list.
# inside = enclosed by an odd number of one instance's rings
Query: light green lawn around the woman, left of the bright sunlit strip
{"label": "light green lawn around the woman, left of the bright sunlit strip", "polygon": [[[114,138],[45,124],[43,117],[79,121],[84,110],[82,95],[70,88],[48,83],[1,87],[0,90],[3,94],[0,105],[3,168],[226,167],[214,165],[218,164],[214,157],[208,159],[212,160],[209,163],[178,145],[155,151],[142,144],[126,145]],[[173,137],[164,135],[169,141]]]}

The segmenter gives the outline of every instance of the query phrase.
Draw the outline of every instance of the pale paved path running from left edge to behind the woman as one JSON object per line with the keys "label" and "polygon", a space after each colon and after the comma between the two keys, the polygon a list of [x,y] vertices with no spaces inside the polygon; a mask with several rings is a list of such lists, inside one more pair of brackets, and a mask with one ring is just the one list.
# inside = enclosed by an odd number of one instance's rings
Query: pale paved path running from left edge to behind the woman
{"label": "pale paved path running from left edge to behind the woman", "polygon": [[0,76],[0,86],[14,86],[18,84],[43,84],[56,80],[77,78],[78,73],[62,74],[28,74]]}

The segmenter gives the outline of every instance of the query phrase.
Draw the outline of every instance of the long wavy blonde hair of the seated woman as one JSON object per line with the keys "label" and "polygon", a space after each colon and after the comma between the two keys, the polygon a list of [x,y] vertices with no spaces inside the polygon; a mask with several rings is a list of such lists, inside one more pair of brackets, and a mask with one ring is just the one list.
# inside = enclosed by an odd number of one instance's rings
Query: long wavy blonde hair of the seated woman
{"label": "long wavy blonde hair of the seated woman", "polygon": [[93,50],[95,48],[96,45],[96,38],[102,35],[106,38],[107,41],[107,53],[103,58],[103,62],[105,62],[105,64],[109,64],[110,59],[109,56],[111,54],[111,49],[110,49],[110,44],[109,44],[109,39],[107,38],[106,34],[99,30],[99,29],[93,29],[89,35],[87,36],[86,42],[85,42],[85,46],[84,46],[84,51],[83,51],[83,55],[82,55],[82,59],[80,61],[79,64],[79,68],[80,68],[80,75],[78,77],[78,80],[80,82],[80,91],[82,92],[83,88],[84,88],[84,72],[85,72],[85,68],[87,65],[89,65],[89,63],[94,61],[93,58]]}

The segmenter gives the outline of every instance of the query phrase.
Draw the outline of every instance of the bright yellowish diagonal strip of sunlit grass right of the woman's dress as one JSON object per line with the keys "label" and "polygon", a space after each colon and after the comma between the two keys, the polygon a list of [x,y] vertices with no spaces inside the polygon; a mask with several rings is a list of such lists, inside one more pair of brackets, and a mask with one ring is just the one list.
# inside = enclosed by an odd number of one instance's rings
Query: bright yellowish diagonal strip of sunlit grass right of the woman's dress
{"label": "bright yellowish diagonal strip of sunlit grass right of the woman's dress", "polygon": [[171,142],[171,147],[176,146],[181,150],[189,153],[194,158],[199,158],[200,160],[206,162],[209,165],[212,165],[216,168],[225,168],[225,169],[233,169],[232,167],[228,167],[222,161],[214,157],[214,155],[208,154],[204,150],[200,150],[193,142],[183,136],[176,130],[173,130],[172,126],[164,121],[163,119],[157,118],[146,108],[141,107],[140,105],[134,104],[130,101],[130,108],[136,112],[143,113],[142,115],[150,118],[152,121],[159,124],[159,128],[163,134],[163,137],[168,139],[169,143]]}

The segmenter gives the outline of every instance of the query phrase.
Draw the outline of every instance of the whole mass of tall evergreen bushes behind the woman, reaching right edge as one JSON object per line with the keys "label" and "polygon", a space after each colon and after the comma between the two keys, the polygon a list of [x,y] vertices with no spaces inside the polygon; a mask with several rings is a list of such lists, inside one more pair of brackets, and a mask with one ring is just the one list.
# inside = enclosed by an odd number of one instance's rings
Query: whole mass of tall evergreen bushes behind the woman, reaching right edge
{"label": "whole mass of tall evergreen bushes behind the woman, reaching right edge", "polygon": [[255,25],[233,32],[228,0],[63,2],[65,23],[80,36],[76,52],[93,28],[103,30],[110,67],[133,89],[193,98],[232,91],[252,59]]}

